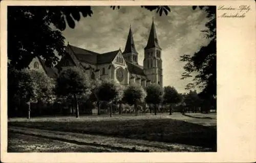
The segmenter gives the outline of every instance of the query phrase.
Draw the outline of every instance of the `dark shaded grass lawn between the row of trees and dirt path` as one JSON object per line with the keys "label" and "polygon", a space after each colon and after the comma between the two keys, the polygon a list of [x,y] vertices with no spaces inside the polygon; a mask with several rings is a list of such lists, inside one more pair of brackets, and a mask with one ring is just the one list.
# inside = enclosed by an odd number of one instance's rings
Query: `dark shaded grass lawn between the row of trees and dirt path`
{"label": "dark shaded grass lawn between the row of trees and dirt path", "polygon": [[208,147],[212,151],[217,148],[216,126],[207,127],[172,119],[172,115],[11,119],[8,125],[179,143]]}

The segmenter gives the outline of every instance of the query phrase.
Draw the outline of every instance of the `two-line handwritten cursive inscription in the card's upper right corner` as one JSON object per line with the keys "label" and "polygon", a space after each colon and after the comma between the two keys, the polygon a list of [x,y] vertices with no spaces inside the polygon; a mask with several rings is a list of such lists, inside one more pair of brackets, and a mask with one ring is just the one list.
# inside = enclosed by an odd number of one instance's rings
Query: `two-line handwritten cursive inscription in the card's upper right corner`
{"label": "two-line handwritten cursive inscription in the card's upper right corner", "polygon": [[217,10],[224,12],[218,17],[244,18],[244,17],[246,17],[246,13],[248,13],[251,10],[251,8],[250,8],[250,6],[247,6],[247,5],[241,5],[238,7],[222,5],[222,6],[219,6],[217,8]]}

